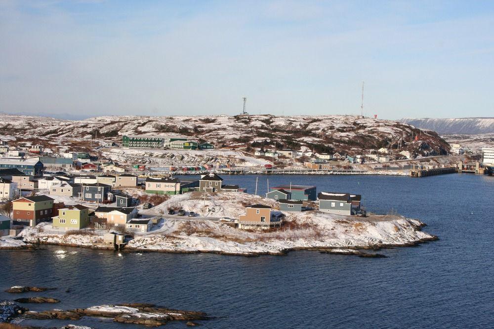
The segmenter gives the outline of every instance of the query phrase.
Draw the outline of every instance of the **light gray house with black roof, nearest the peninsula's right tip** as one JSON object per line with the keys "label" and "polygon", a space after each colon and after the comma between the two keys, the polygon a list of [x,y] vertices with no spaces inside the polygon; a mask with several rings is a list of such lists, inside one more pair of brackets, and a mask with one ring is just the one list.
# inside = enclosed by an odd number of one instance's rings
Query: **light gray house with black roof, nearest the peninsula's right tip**
{"label": "light gray house with black roof, nearest the peninsula's right tip", "polygon": [[317,196],[319,210],[341,215],[354,215],[360,211],[361,195],[337,192],[321,192]]}

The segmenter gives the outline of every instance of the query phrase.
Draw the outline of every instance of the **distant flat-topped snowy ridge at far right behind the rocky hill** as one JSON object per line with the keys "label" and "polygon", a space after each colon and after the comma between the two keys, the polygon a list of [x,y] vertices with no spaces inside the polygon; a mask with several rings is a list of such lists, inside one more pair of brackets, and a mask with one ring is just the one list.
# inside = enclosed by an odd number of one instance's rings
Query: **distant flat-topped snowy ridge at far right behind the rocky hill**
{"label": "distant flat-topped snowy ridge at far right behind the rocky hill", "polygon": [[484,134],[494,132],[494,118],[412,119],[400,120],[417,128],[434,130],[440,134]]}

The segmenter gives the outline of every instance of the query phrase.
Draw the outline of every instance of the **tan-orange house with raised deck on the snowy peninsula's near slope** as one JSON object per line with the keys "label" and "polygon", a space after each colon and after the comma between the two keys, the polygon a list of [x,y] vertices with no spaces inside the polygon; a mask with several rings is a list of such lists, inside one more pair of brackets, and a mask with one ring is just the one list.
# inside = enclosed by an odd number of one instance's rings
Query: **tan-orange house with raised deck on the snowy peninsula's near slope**
{"label": "tan-orange house with raised deck on the snowy peninsula's near slope", "polygon": [[251,205],[246,206],[246,214],[239,216],[239,228],[241,229],[268,229],[281,226],[282,214],[272,213],[270,206]]}

